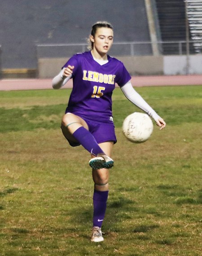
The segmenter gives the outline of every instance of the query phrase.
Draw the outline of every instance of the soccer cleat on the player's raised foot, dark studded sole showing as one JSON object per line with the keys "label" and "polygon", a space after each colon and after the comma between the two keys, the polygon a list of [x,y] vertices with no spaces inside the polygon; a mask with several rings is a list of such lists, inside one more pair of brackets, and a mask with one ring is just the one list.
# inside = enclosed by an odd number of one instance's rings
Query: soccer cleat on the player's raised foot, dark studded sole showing
{"label": "soccer cleat on the player's raised foot, dark studded sole showing", "polygon": [[93,169],[110,169],[114,166],[114,161],[110,157],[106,156],[105,154],[98,154],[97,157],[93,157],[89,161],[89,165]]}

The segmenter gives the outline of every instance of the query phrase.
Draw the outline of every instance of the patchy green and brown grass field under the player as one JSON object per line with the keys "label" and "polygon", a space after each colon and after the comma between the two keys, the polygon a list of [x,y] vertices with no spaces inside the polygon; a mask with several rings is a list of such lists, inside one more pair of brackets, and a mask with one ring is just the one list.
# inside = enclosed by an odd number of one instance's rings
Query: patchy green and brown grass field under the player
{"label": "patchy green and brown grass field under the player", "polygon": [[202,255],[202,86],[136,90],[167,127],[127,141],[123,119],[140,110],[115,89],[103,243],[90,242],[89,153],[60,131],[70,90],[0,92],[1,256]]}

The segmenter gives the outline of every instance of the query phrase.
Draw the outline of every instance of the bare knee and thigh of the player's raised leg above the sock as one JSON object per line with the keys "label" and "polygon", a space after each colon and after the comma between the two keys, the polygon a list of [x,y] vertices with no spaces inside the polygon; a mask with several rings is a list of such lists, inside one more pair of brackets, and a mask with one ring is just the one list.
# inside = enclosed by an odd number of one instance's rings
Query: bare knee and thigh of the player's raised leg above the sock
{"label": "bare knee and thigh of the player's raised leg above the sock", "polygon": [[72,134],[77,130],[79,127],[84,127],[88,130],[87,123],[81,118],[76,116],[72,113],[67,113],[62,117],[61,121],[61,129],[64,134],[64,136],[73,141],[77,142],[76,139],[72,136]]}

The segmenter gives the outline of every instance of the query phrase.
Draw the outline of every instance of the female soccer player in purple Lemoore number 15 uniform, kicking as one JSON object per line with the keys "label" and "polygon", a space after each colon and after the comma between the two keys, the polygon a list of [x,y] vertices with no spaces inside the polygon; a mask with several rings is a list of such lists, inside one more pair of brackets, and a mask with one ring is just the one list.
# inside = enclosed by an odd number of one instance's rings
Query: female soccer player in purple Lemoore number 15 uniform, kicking
{"label": "female soccer player in purple Lemoore number 15 uniform, kicking", "polygon": [[89,153],[94,181],[92,242],[103,241],[101,225],[104,220],[109,190],[109,169],[116,143],[112,117],[112,92],[115,83],[137,107],[153,117],[162,130],[166,123],[133,89],[131,76],[123,63],[107,52],[113,43],[113,27],[108,22],[97,22],[90,35],[91,50],[75,54],[53,78],[53,88],[59,89],[73,78],[61,130],[72,147],[82,145]]}

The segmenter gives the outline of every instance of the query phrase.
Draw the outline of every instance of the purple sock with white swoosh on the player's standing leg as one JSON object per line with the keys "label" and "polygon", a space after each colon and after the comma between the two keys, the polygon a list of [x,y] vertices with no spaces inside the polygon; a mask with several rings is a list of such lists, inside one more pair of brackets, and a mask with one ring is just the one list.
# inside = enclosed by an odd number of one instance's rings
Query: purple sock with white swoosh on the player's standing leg
{"label": "purple sock with white swoosh on the player's standing leg", "polygon": [[109,191],[94,190],[93,194],[93,227],[101,228],[105,217],[106,202]]}

